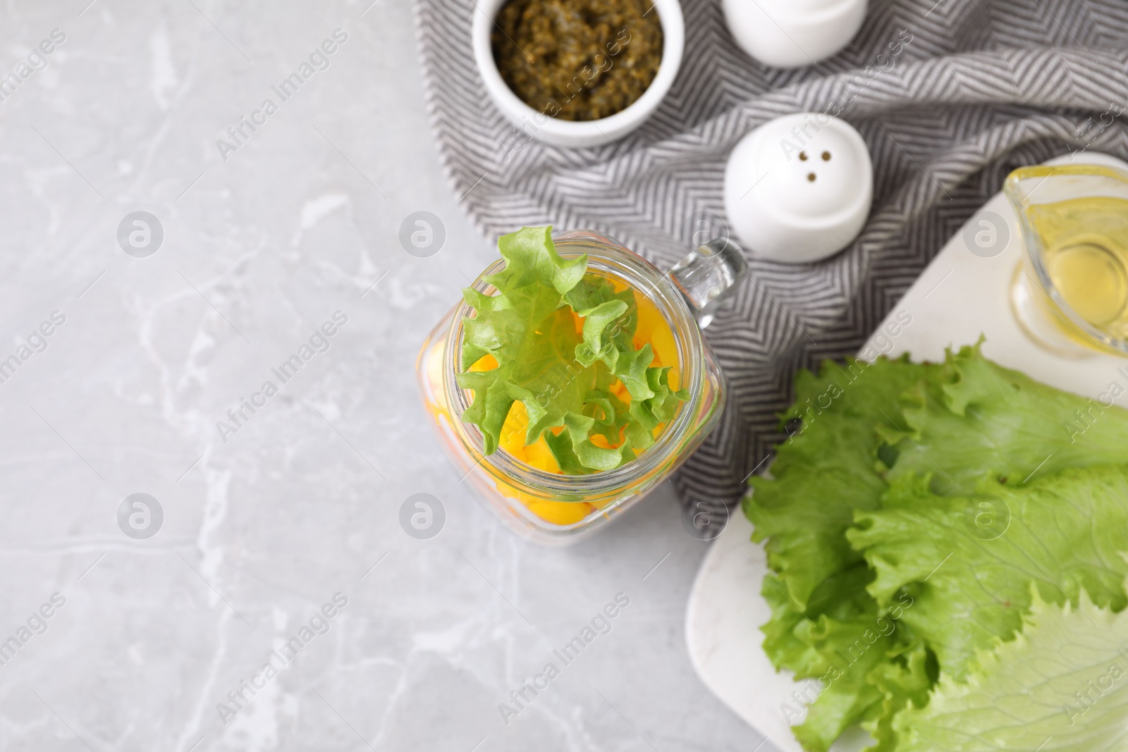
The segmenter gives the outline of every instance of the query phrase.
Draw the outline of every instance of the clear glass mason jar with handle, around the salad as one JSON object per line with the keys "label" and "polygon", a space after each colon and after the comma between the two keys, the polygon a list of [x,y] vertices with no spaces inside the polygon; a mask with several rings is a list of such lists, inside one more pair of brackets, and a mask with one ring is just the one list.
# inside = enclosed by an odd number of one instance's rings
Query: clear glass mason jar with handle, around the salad
{"label": "clear glass mason jar with handle, around the salad", "polygon": [[[553,236],[563,258],[588,255],[588,272],[632,289],[664,318],[673,335],[677,365],[671,371],[689,398],[662,428],[654,444],[634,461],[590,475],[563,475],[534,467],[504,448],[488,457],[482,432],[464,423],[473,395],[456,383],[462,319],[474,309],[455,306],[428,335],[416,361],[423,401],[455,463],[488,505],[519,533],[548,545],[572,543],[610,522],[667,480],[716,426],[725,401],[724,374],[700,328],[743,276],[746,263],[731,241],[697,248],[668,274],[618,241],[589,231]],[[484,280],[504,267],[499,259],[472,285],[492,294]],[[677,375],[672,375],[673,373]]]}

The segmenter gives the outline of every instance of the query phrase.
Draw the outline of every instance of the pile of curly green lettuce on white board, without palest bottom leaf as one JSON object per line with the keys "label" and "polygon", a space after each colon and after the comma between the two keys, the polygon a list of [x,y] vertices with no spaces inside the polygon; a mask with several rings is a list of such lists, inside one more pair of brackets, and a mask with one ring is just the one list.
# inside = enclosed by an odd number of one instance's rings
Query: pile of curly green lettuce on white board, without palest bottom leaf
{"label": "pile of curly green lettuce on white board, without palest bottom leaf", "polygon": [[[873,750],[904,749],[902,713],[1021,629],[1031,582],[1049,601],[1087,592],[1123,608],[1125,470],[1068,470],[1128,463],[1128,413],[1107,407],[1119,390],[1086,400],[978,346],[938,365],[879,359],[799,374],[782,419],[802,427],[777,448],[773,477],[750,481],[744,513],[774,573],[764,648],[823,687],[794,728],[804,749],[825,752],[857,723]],[[996,536],[1003,508],[1011,528]],[[895,605],[896,630],[866,642]]]}

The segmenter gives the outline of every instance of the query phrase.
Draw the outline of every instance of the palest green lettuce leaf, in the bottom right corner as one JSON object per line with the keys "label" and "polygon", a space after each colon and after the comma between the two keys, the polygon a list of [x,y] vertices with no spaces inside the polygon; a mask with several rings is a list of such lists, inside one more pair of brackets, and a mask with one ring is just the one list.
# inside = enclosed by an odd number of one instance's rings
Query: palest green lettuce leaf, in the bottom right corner
{"label": "palest green lettuce leaf, in the bottom right corner", "polygon": [[898,750],[1128,750],[1128,613],[1085,592],[1076,608],[1050,604],[1039,590],[1022,631],[980,653],[967,682],[945,676],[927,708],[902,708]]}

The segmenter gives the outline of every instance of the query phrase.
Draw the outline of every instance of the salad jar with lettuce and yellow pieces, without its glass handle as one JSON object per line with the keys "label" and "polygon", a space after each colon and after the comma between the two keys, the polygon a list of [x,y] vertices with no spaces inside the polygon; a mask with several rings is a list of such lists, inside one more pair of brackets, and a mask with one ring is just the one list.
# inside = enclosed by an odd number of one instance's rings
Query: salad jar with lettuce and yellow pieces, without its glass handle
{"label": "salad jar with lettuce and yellow pieces, without its glass handle", "polygon": [[669,477],[724,381],[677,280],[614,240],[525,228],[499,249],[424,343],[423,397],[503,519],[566,542]]}

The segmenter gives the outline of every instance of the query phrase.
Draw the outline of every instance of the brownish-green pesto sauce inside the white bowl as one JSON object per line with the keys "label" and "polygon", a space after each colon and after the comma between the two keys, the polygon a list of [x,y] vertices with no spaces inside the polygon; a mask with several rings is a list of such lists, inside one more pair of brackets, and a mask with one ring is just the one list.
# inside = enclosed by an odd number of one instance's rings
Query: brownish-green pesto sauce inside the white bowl
{"label": "brownish-green pesto sauce inside the white bowl", "polygon": [[509,0],[491,43],[509,88],[537,112],[566,121],[626,109],[662,62],[652,0]]}

